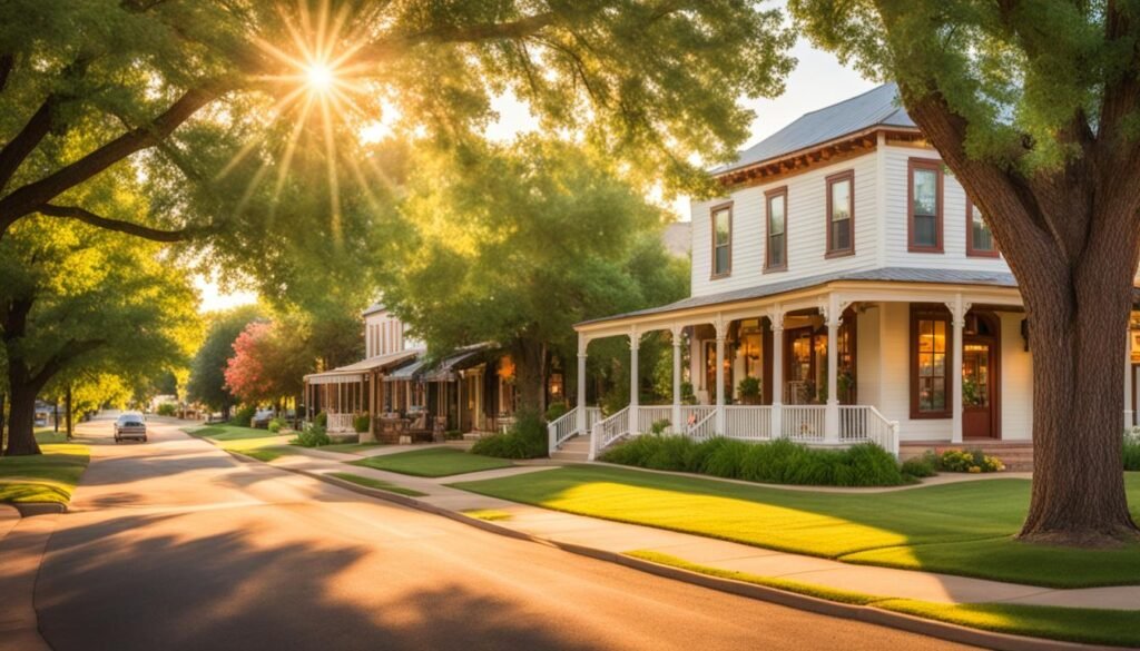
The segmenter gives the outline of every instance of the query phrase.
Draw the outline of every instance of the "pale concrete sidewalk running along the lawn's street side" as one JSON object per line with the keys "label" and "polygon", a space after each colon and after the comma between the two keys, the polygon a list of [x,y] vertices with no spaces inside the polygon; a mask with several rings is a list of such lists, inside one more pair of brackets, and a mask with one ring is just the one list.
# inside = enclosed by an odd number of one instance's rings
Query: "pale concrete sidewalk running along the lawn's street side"
{"label": "pale concrete sidewalk running along the lawn's street side", "polygon": [[459,513],[475,510],[500,511],[510,514],[510,518],[496,520],[496,526],[556,544],[588,547],[614,554],[633,551],[659,552],[690,563],[720,570],[783,578],[878,596],[915,599],[938,603],[1007,602],[1112,610],[1137,610],[1140,607],[1140,586],[1056,589],[934,572],[855,565],[691,534],[549,511],[445,486],[445,483],[457,481],[477,481],[544,472],[556,466],[527,465],[429,479],[368,467],[347,466],[308,455],[282,457],[274,461],[272,465],[315,475],[351,472],[388,481],[425,494],[424,497],[416,499],[438,508]]}

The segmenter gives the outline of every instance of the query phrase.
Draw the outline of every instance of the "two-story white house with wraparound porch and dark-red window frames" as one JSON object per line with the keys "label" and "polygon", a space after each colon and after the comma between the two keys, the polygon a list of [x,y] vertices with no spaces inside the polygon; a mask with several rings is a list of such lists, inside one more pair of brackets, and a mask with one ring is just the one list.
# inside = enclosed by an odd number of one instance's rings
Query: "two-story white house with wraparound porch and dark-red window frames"
{"label": "two-story white house with wraparound porch and dark-red window frames", "polygon": [[[552,449],[581,434],[596,454],[660,420],[695,437],[895,451],[1029,442],[1017,283],[894,84],[808,113],[714,174],[724,196],[692,202],[692,295],[576,326],[579,383],[589,342],[627,337],[636,367],[642,335],[670,332],[674,404],[638,405],[634,390],[602,421],[579,385]],[[699,405],[679,400],[685,347]],[[744,377],[762,385],[750,404]]]}

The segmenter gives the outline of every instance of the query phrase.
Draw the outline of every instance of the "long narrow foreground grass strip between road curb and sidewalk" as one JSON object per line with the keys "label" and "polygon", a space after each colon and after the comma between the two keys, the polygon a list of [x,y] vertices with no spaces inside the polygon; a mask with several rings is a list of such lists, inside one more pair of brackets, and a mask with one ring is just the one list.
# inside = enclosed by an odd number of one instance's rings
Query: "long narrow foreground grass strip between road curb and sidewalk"
{"label": "long narrow foreground grass strip between road curb and sidewalk", "polygon": [[883,610],[995,633],[1047,637],[1050,640],[1083,642],[1088,644],[1140,646],[1140,611],[1137,610],[1099,610],[1013,603],[948,604],[910,599],[890,599],[776,577],[763,577],[700,565],[659,552],[637,551],[628,552],[626,555],[691,572],[774,587],[840,603],[872,605]]}

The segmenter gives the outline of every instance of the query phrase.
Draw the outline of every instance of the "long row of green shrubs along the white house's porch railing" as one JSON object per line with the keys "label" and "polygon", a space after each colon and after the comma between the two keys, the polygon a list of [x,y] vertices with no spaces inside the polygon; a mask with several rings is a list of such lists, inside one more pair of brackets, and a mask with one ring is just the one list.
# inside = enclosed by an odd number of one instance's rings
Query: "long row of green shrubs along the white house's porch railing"
{"label": "long row of green shrubs along the white house's porch railing", "polygon": [[895,457],[873,444],[813,449],[787,439],[748,444],[716,437],[698,442],[687,437],[645,434],[606,450],[602,459],[764,483],[899,486],[909,481]]}

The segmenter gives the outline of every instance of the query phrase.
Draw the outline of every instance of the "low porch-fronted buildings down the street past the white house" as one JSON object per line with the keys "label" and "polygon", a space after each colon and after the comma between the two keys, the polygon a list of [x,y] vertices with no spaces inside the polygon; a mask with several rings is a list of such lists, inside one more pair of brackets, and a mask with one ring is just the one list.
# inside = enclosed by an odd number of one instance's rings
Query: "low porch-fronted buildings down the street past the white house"
{"label": "low porch-fronted buildings down the street past the white house", "polygon": [[[404,437],[442,438],[445,432],[479,436],[513,422],[518,408],[514,364],[490,344],[435,358],[409,337],[407,327],[383,306],[363,314],[366,358],[304,376],[306,418],[325,412],[329,432],[353,432],[353,418],[369,414],[364,441],[398,442]],[[547,394],[563,400],[555,367]]]}

